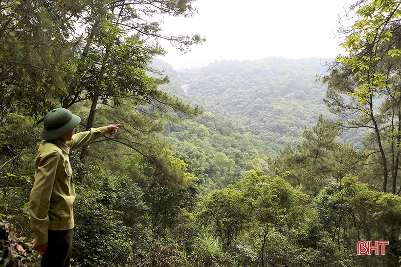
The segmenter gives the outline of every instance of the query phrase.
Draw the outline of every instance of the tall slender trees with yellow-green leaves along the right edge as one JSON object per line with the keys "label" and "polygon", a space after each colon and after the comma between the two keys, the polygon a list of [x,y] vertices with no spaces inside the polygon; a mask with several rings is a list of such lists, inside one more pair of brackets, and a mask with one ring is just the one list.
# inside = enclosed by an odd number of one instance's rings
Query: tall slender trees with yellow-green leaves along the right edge
{"label": "tall slender trees with yellow-green leaves along the right edge", "polygon": [[367,128],[374,133],[372,163],[380,164],[382,190],[388,177],[396,193],[400,165],[400,1],[359,1],[358,19],[342,44],[346,55],[337,57],[330,74],[325,102],[342,126]]}

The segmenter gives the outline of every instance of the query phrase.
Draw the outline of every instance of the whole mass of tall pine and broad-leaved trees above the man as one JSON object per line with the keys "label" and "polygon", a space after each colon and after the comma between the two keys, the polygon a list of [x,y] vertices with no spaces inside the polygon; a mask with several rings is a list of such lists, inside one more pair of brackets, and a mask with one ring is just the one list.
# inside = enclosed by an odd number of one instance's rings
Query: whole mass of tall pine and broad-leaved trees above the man
{"label": "whole mass of tall pine and broad-leaved trees above the man", "polygon": [[[126,106],[138,113],[175,110],[176,118],[199,113],[157,90],[166,77],[149,74],[151,58],[165,53],[157,40],[166,39],[182,52],[204,41],[198,34],[167,36],[161,28],[159,15],[191,16],[193,2],[3,1],[0,118],[13,110],[44,116],[58,105],[90,102],[89,113],[82,114],[88,129],[98,104],[118,106],[122,99],[130,99]],[[134,108],[139,105],[148,107]],[[85,146],[82,157],[87,154]]]}

